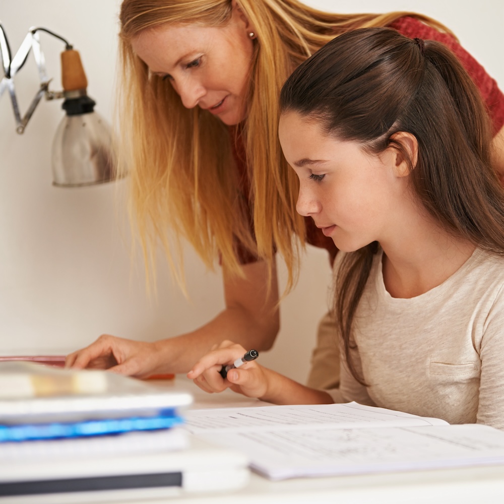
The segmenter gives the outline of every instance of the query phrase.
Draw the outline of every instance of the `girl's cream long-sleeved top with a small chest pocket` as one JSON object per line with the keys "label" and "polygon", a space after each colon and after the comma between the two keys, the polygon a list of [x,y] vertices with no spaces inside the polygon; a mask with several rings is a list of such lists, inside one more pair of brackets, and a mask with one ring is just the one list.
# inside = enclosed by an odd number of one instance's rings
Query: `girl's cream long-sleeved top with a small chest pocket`
{"label": "girl's cream long-sleeved top with a small chest pocket", "polygon": [[382,255],[354,321],[369,386],[342,362],[343,400],[504,429],[504,259],[477,248],[441,285],[400,299],[385,288]]}

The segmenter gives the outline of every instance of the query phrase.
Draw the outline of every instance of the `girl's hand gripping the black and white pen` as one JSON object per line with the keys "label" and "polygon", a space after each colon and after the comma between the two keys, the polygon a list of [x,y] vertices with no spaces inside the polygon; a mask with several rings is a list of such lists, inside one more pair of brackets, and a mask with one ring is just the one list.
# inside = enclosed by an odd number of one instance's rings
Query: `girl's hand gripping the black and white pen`
{"label": "girl's hand gripping the black and white pen", "polygon": [[226,379],[220,374],[223,366],[232,364],[248,350],[231,341],[223,341],[217,348],[204,355],[187,373],[187,377],[208,393],[222,392],[230,388],[247,397],[263,397],[268,390],[265,368],[256,361],[230,369]]}

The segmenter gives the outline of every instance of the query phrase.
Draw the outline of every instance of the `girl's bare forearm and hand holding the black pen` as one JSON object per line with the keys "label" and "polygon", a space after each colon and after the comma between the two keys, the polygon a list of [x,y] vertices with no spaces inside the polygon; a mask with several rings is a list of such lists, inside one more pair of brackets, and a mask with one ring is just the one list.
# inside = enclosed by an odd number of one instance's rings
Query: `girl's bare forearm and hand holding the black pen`
{"label": "girl's bare forearm and hand holding the black pen", "polygon": [[187,373],[202,390],[222,392],[228,387],[247,397],[256,397],[274,404],[330,404],[331,396],[321,390],[305,387],[286,376],[261,366],[257,361],[231,369],[223,379],[219,371],[223,365],[234,362],[247,350],[241,345],[224,341],[203,356]]}

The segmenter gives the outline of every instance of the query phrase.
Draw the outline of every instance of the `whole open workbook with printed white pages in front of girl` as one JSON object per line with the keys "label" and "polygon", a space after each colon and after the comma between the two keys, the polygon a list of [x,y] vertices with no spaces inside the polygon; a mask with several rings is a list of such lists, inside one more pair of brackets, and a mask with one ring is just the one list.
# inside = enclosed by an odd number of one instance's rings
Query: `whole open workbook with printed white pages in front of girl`
{"label": "whole open workbook with printed white pages in front of girl", "polygon": [[187,428],[270,479],[504,464],[502,431],[355,403],[191,411]]}

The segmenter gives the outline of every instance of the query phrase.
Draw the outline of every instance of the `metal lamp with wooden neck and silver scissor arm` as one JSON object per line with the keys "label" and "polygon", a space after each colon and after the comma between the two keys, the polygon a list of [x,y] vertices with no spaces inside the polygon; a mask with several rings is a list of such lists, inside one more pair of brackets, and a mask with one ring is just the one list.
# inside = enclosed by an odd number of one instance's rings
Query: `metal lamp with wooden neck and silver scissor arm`
{"label": "metal lamp with wooden neck and silver scissor arm", "polygon": [[[45,32],[63,41],[61,53],[61,81],[63,90],[49,91],[51,79],[47,78],[45,58],[39,41],[39,32]],[[14,76],[26,62],[30,49],[38,68],[40,88],[24,117],[21,117]],[[95,101],[87,95],[87,78],[79,53],[67,40],[46,28],[31,28],[14,57],[7,35],[0,22],[0,55],[4,78],[0,81],[0,97],[7,89],[11,96],[16,119],[16,131],[22,134],[30,117],[41,100],[63,98],[66,111],[56,130],[52,144],[53,184],[60,187],[75,187],[107,182],[114,178],[114,158],[111,150],[111,132],[106,121],[94,110]]]}

